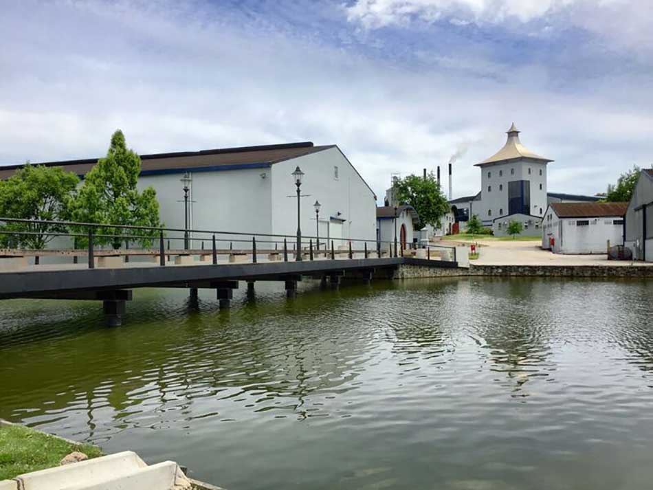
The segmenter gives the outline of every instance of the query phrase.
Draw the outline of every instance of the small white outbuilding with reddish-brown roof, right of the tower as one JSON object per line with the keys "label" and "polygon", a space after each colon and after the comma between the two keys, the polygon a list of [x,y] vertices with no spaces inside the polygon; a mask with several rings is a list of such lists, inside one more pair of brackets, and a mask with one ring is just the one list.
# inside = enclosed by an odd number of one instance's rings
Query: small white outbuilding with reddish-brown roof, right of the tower
{"label": "small white outbuilding with reddish-brown roof, right of the tower", "polygon": [[623,245],[628,203],[551,203],[542,218],[542,248],[554,254],[607,254]]}

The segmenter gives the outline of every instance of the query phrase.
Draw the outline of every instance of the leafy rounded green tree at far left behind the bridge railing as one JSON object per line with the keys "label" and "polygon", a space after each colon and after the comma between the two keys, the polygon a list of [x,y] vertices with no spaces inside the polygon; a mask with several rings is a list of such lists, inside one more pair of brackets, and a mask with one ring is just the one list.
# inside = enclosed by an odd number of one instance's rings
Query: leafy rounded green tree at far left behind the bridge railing
{"label": "leafy rounded green tree at far left behind the bridge railing", "polygon": [[[63,221],[69,217],[69,202],[79,178],[61,167],[31,165],[27,162],[14,175],[0,181],[0,216],[5,218]],[[43,249],[55,236],[67,232],[65,225],[5,222],[1,230],[28,232],[25,235],[0,235],[3,246]]]}

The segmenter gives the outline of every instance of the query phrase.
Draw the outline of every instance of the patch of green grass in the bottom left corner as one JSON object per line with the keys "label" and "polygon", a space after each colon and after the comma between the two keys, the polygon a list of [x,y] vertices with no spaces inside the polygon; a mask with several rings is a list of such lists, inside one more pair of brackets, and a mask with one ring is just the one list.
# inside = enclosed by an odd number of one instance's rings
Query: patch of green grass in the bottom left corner
{"label": "patch of green grass in the bottom left corner", "polygon": [[58,466],[73,451],[89,458],[102,456],[100,448],[90,444],[71,444],[23,425],[0,424],[0,480]]}

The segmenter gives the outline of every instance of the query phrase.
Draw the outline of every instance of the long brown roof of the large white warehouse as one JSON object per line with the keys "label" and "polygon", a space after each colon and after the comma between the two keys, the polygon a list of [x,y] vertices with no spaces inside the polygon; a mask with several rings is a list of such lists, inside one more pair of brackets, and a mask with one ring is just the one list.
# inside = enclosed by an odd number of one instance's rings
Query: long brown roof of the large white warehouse
{"label": "long brown roof of the large white warehouse", "polygon": [[[153,153],[141,155],[142,172],[162,170],[201,169],[215,166],[236,166],[247,164],[275,164],[287,159],[317,153],[334,148],[335,145],[313,146],[311,142],[277,144],[265,146],[241,146],[238,148],[218,148],[214,150],[188,151],[177,153]],[[65,170],[85,175],[98,159],[67,160],[64,162],[45,162],[45,166],[62,166]],[[21,165],[0,167],[0,179],[11,177]]]}

